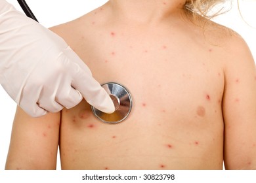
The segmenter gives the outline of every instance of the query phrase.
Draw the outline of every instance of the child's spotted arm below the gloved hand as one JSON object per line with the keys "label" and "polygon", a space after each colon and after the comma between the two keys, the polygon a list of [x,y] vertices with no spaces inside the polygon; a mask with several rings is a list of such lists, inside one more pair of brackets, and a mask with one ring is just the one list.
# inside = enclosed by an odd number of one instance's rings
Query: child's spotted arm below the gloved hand
{"label": "child's spotted arm below the gloved hand", "polygon": [[17,108],[5,169],[56,169],[60,112],[39,118]]}

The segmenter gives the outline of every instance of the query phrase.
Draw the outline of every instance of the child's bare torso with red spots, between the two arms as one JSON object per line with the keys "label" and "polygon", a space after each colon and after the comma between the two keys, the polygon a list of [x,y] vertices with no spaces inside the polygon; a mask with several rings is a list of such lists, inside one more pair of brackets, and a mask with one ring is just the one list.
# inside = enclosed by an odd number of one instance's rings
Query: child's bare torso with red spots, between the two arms
{"label": "child's bare torso with red spots, between the two arms", "polygon": [[133,108],[115,125],[85,101],[62,110],[62,169],[222,169],[219,48],[183,25],[108,25],[96,12],[60,35],[100,84],[128,88]]}

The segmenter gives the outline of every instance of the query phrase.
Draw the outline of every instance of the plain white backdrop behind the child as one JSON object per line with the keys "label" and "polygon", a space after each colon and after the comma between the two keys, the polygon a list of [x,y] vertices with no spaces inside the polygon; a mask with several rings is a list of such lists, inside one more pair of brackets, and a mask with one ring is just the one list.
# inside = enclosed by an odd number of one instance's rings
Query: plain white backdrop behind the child
{"label": "plain white backdrop behind the child", "polygon": [[[7,1],[18,10],[21,10],[17,1]],[[227,1],[228,3],[226,3],[225,7],[230,6],[232,0]],[[240,10],[244,19],[242,19],[240,12],[238,12],[237,1],[233,1],[232,9],[226,14],[215,18],[215,22],[226,25],[240,33],[249,45],[253,57],[256,58],[256,0],[240,0]],[[37,20],[45,27],[51,27],[73,20],[103,5],[106,3],[106,0],[27,0],[26,2]],[[0,171],[5,169],[5,159],[9,148],[15,108],[16,104],[0,86]],[[60,169],[59,163],[58,169]]]}

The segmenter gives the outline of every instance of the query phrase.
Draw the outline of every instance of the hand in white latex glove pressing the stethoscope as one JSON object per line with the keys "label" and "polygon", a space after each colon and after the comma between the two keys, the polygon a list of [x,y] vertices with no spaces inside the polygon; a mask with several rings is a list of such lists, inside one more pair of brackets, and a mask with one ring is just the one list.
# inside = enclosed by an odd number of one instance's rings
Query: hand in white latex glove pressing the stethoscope
{"label": "hand in white latex glove pressing the stethoscope", "polygon": [[3,0],[0,83],[34,117],[72,108],[83,97],[98,110],[114,112],[109,95],[66,42]]}

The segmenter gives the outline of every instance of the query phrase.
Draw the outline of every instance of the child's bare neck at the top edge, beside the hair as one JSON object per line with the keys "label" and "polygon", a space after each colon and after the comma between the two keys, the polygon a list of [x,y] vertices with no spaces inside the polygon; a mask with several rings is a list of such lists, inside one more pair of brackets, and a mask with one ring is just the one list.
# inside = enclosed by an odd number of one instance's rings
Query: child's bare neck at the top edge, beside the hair
{"label": "child's bare neck at the top edge, beside the hair", "polygon": [[170,16],[180,16],[186,0],[110,0],[108,5],[114,16],[149,24]]}

